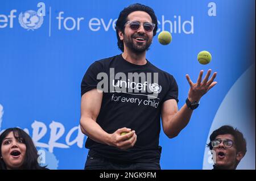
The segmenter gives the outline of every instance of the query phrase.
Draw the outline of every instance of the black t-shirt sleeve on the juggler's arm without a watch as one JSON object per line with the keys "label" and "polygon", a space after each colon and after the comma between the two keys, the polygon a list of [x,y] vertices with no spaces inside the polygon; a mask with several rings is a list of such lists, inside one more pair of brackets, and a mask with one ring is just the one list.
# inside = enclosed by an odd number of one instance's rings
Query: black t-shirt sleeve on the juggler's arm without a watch
{"label": "black t-shirt sleeve on the juggler's arm without a watch", "polygon": [[81,82],[81,96],[92,89],[97,88],[97,84],[100,80],[97,79],[98,73],[104,72],[104,65],[101,62],[94,62],[87,69]]}

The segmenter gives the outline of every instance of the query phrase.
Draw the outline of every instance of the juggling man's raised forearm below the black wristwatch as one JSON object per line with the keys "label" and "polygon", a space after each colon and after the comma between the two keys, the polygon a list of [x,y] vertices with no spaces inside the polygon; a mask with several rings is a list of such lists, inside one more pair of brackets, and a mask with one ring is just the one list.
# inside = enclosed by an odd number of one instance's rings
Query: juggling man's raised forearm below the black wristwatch
{"label": "juggling man's raised forearm below the black wristwatch", "polygon": [[176,137],[180,131],[185,128],[191,119],[192,110],[186,104],[168,121],[168,129],[166,134],[168,137]]}

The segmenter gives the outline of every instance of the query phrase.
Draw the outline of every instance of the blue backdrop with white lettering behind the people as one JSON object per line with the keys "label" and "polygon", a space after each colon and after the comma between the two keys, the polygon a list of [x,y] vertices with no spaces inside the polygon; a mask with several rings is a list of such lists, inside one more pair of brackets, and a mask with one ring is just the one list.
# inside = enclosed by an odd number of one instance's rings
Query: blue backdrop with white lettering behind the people
{"label": "blue backdrop with white lettering behind the people", "polygon": [[[185,74],[196,81],[202,69],[218,73],[218,84],[179,136],[170,140],[160,133],[162,169],[210,169],[205,145],[210,132],[224,124],[247,125],[238,127],[250,148],[240,169],[255,169],[254,0],[1,1],[0,131],[25,129],[50,169],[83,169],[88,150],[79,128],[80,83],[92,62],[121,53],[115,19],[135,2],[152,7],[159,31],[172,33],[166,46],[154,37],[147,59],[176,78],[179,108],[189,89]],[[197,61],[201,50],[212,53],[208,65]],[[222,111],[221,104],[246,70],[251,71],[237,86],[241,91],[230,100],[246,95],[247,102],[226,101],[226,107],[237,106],[240,119],[234,120],[234,112]],[[218,111],[225,118],[216,117]]]}

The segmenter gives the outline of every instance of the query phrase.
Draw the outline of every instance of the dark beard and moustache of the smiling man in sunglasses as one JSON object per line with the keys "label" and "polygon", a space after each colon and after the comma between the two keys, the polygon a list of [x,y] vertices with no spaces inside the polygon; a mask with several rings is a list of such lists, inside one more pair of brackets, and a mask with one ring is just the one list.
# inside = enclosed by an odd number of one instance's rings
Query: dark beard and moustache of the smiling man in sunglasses
{"label": "dark beard and moustache of the smiling man in sunglasses", "polygon": [[[142,37],[144,40],[146,40],[146,43],[142,42],[136,42],[134,43],[134,38],[136,37]],[[150,45],[152,43],[152,40],[148,40],[148,37],[145,35],[138,35],[134,34],[130,37],[124,36],[123,43],[126,45],[128,49],[131,50],[131,52],[134,52],[136,54],[141,54],[144,51],[148,50],[150,48]]]}

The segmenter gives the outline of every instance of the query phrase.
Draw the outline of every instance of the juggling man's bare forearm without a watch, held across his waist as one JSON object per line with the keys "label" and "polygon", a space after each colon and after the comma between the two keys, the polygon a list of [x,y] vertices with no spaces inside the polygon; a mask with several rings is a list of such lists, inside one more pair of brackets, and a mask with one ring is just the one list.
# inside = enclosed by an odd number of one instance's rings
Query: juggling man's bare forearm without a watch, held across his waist
{"label": "juggling man's bare forearm without a watch, held across his waist", "polygon": [[81,118],[80,126],[82,133],[93,141],[109,145],[109,133],[105,132],[96,121],[90,118]]}

